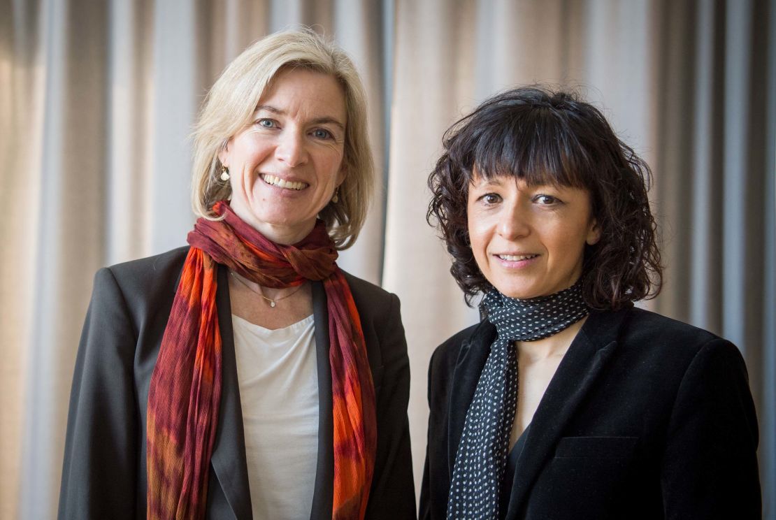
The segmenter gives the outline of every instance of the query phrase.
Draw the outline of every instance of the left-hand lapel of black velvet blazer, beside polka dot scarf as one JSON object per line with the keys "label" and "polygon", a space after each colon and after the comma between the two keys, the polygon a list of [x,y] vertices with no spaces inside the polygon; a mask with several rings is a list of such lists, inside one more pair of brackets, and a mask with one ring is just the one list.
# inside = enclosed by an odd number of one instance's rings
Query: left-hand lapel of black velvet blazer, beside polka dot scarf
{"label": "left-hand lapel of black velvet blazer, beside polka dot scarf", "polygon": [[456,453],[463,434],[463,424],[466,421],[466,411],[472,403],[477,381],[485,366],[485,360],[490,354],[490,345],[496,339],[496,328],[490,321],[481,321],[473,331],[469,341],[461,345],[453,370],[452,380],[455,382],[450,389],[450,408],[448,411],[448,468],[452,480],[452,469],[456,464]]}

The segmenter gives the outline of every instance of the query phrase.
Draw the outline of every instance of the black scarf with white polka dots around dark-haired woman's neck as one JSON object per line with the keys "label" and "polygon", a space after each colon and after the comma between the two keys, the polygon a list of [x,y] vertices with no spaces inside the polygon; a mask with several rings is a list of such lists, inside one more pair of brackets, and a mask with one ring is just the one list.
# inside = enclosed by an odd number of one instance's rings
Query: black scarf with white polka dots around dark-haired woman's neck
{"label": "black scarf with white polka dots around dark-haired woman's neck", "polygon": [[449,520],[499,518],[499,490],[518,397],[514,341],[548,338],[587,316],[580,283],[559,293],[517,300],[496,290],[480,303],[497,338],[477,382],[452,470]]}

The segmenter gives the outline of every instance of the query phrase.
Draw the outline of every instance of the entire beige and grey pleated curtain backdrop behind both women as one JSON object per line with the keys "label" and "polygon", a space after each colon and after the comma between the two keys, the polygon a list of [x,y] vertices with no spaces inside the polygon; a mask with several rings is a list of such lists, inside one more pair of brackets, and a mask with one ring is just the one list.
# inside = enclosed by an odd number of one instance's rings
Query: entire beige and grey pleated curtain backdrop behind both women
{"label": "entire beige and grey pleated curtain backdrop behind both women", "polygon": [[54,517],[92,275],[183,244],[206,89],[295,23],[334,36],[369,95],[385,182],[340,264],[402,301],[416,484],[428,359],[477,319],[426,178],[449,124],[539,82],[583,92],[653,166],[668,269],[646,306],[742,348],[776,518],[776,0],[0,0],[0,518]]}

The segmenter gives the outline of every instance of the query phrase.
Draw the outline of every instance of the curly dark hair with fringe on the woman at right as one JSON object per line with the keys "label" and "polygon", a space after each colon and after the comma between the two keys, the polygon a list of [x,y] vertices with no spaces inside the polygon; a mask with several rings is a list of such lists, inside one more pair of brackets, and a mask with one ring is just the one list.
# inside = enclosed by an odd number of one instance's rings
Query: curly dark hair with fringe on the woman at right
{"label": "curly dark hair with fringe on the woman at right", "polygon": [[590,307],[617,310],[660,292],[663,266],[646,195],[650,168],[577,94],[514,88],[455,123],[442,143],[445,152],[428,177],[433,198],[426,219],[441,231],[450,272],[469,306],[493,288],[469,243],[466,203],[475,169],[486,179],[509,175],[528,185],[587,189],[601,228],[601,240],[584,251],[582,286]]}

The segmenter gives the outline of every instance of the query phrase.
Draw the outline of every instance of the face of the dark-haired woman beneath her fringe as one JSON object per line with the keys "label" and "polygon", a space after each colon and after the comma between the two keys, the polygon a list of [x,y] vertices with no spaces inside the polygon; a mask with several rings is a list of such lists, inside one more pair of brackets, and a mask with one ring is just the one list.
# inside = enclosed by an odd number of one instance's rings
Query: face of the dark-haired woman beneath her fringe
{"label": "face of the dark-haired woman beneath her fringe", "polygon": [[481,179],[475,172],[467,211],[480,271],[512,298],[572,286],[582,274],[584,245],[601,237],[584,189],[528,186],[511,176]]}

